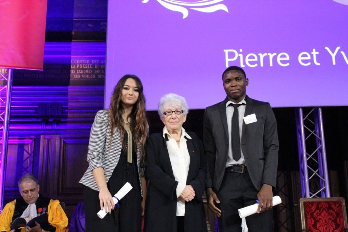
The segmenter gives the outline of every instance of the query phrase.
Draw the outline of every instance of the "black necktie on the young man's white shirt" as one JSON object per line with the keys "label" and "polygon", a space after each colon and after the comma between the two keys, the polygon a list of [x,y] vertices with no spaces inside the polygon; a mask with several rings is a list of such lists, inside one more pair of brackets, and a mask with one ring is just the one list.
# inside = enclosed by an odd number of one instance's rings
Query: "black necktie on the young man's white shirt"
{"label": "black necktie on the young man's white shirt", "polygon": [[238,107],[242,104],[232,104],[235,108],[232,115],[232,158],[238,162],[241,158],[241,144],[239,139]]}

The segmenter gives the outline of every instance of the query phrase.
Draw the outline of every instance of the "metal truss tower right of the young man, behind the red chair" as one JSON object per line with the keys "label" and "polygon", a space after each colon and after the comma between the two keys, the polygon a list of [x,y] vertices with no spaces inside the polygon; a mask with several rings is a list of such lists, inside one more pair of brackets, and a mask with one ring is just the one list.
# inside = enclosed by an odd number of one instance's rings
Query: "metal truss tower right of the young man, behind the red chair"
{"label": "metal truss tower right of the young man, behind the red chair", "polygon": [[301,197],[330,197],[321,107],[296,108],[296,124]]}

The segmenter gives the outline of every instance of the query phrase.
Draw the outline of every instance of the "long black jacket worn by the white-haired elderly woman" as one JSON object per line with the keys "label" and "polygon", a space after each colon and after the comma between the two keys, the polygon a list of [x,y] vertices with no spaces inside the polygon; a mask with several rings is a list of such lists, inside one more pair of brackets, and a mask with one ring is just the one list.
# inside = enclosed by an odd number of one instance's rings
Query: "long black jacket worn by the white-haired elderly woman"
{"label": "long black jacket worn by the white-haired elderly woman", "polygon": [[[190,166],[186,185],[192,185],[196,196],[185,202],[185,231],[207,231],[202,196],[206,181],[206,159],[202,141],[193,132],[186,138]],[[144,231],[177,231],[178,182],[174,179],[163,132],[150,135],[146,140],[145,177],[148,179],[145,203]]]}

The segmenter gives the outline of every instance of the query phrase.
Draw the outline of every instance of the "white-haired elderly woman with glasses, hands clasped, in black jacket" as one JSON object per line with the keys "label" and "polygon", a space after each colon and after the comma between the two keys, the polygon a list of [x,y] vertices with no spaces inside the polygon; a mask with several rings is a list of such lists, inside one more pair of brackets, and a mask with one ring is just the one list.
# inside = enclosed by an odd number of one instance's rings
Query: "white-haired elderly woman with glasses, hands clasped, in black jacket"
{"label": "white-haired elderly woman with glasses, hands clasped, in black jacket", "polygon": [[188,113],[185,98],[163,96],[158,113],[163,131],[146,140],[144,231],[207,231],[202,202],[206,160],[202,141],[182,127]]}

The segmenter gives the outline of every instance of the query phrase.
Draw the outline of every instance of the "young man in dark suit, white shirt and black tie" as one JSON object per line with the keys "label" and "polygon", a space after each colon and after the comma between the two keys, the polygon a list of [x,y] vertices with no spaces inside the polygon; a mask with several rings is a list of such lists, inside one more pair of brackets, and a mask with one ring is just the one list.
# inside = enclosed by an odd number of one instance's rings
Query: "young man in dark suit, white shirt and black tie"
{"label": "young man in dark suit, white shirt and black tie", "polygon": [[238,209],[258,200],[258,213],[246,217],[248,229],[272,231],[277,122],[269,103],[246,95],[249,80],[242,68],[228,67],[222,80],[227,97],[207,107],[203,119],[208,206],[218,216],[220,231],[241,231]]}

